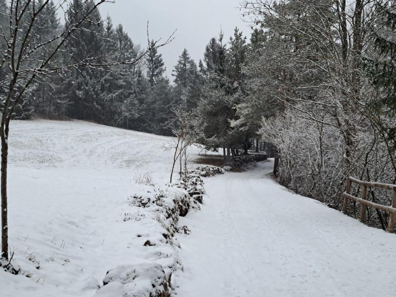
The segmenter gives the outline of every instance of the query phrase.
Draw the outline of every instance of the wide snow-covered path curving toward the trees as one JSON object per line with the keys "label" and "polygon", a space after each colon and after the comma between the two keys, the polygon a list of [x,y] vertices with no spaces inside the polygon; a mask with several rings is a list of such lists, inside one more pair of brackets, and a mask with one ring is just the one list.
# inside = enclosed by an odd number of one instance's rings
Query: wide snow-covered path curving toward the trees
{"label": "wide snow-covered path curving toward the trees", "polygon": [[286,191],[272,165],[205,180],[177,296],[395,296],[396,235]]}

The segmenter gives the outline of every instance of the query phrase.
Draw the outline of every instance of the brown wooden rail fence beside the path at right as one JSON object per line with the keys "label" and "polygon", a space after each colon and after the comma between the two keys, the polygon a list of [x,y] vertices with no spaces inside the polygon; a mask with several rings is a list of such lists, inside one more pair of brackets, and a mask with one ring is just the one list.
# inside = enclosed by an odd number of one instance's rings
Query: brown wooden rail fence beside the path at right
{"label": "brown wooden rail fence beside the path at right", "polygon": [[[361,198],[354,197],[350,195],[350,188],[352,183],[360,185],[362,188]],[[377,188],[377,189],[385,189],[393,191],[392,195],[392,203],[391,206],[385,206],[382,204],[374,203],[372,201],[366,200],[366,193],[367,187]],[[347,191],[343,193],[344,197],[344,204],[343,204],[343,212],[347,213],[347,203],[348,199],[356,201],[360,203],[360,222],[364,223],[366,220],[366,209],[367,206],[371,206],[383,211],[387,211],[390,213],[389,216],[389,223],[388,223],[388,232],[393,233],[395,231],[395,220],[396,220],[396,185],[391,184],[381,184],[381,183],[371,183],[371,182],[364,182],[353,177],[348,177],[347,180]]]}

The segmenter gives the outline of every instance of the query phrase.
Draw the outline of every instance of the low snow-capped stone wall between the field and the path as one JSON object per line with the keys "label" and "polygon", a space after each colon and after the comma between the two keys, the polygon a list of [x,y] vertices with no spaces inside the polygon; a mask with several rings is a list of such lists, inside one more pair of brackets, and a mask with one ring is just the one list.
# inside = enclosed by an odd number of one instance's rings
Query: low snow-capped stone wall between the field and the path
{"label": "low snow-capped stone wall between the field and the path", "polygon": [[178,225],[179,217],[186,216],[190,209],[199,209],[199,203],[203,203],[201,177],[221,173],[221,168],[199,167],[172,185],[140,185],[139,191],[129,199],[132,209],[124,214],[124,221],[151,222],[156,226],[137,234],[137,240],[148,250],[152,249],[150,261],[109,270],[97,296],[169,297],[175,289],[172,272],[183,268],[174,236],[177,232],[190,233],[187,226]]}

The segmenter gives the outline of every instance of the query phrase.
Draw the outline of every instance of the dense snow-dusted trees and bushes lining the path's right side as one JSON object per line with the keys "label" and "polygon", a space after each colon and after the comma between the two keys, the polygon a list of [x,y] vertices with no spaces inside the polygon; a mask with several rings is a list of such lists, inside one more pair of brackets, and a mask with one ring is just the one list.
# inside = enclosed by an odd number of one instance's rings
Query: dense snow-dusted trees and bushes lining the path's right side
{"label": "dense snow-dusted trees and bushes lining the path's right side", "polygon": [[[276,146],[280,183],[336,209],[348,176],[395,184],[395,1],[244,0],[241,9],[254,31],[237,123]],[[385,228],[388,217],[369,209],[367,219]]]}

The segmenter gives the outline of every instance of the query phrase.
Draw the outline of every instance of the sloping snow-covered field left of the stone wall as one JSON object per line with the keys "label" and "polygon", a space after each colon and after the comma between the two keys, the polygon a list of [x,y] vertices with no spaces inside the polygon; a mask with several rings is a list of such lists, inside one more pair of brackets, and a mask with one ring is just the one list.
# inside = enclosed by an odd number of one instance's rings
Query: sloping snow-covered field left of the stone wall
{"label": "sloping snow-covered field left of the stone wall", "polygon": [[0,296],[92,297],[108,269],[152,257],[136,235],[158,226],[123,219],[136,176],[168,181],[170,141],[82,121],[12,122],[9,245],[32,277],[0,270]]}

